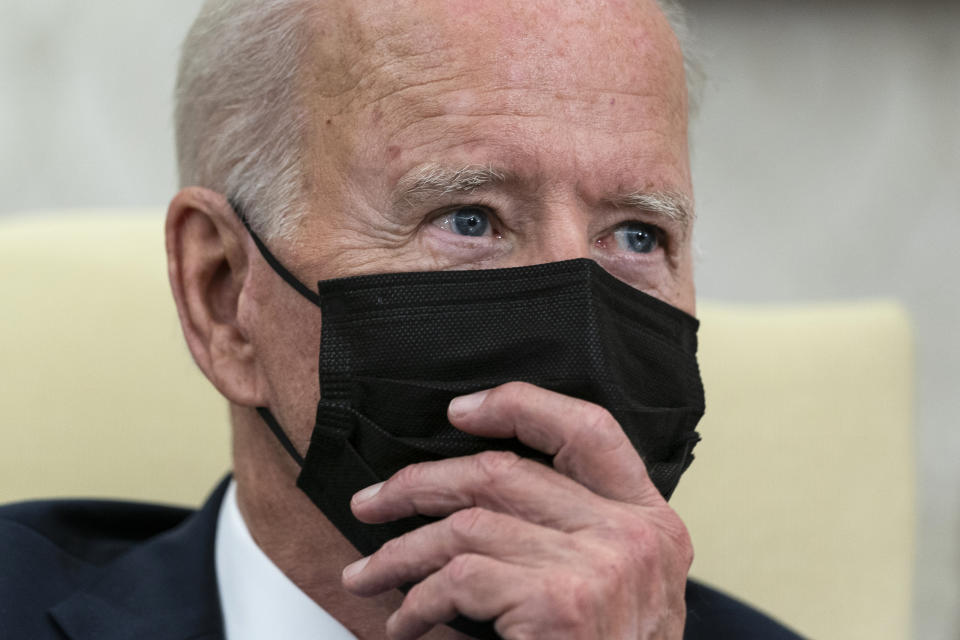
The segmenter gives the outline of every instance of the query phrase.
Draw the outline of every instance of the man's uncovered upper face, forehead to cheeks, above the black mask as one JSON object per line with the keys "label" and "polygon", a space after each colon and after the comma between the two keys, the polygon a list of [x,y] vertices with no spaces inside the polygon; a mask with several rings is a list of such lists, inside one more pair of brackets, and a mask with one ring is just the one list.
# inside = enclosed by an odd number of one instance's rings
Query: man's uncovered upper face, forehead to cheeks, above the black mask
{"label": "man's uncovered upper face, forehead to cheeks, above the black mask", "polygon": [[304,78],[295,273],[589,257],[693,312],[691,221],[643,197],[691,192],[682,55],[653,2],[347,4]]}

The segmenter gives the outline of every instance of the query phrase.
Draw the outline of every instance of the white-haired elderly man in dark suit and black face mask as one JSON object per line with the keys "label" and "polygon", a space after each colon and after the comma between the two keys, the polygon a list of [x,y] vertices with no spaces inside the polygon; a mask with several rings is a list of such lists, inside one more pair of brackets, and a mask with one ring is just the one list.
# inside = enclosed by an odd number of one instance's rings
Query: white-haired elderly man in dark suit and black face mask
{"label": "white-haired elderly man in dark suit and black face mask", "polygon": [[687,583],[665,500],[702,391],[660,6],[208,2],[177,99],[233,477],[7,514],[3,637],[794,637]]}

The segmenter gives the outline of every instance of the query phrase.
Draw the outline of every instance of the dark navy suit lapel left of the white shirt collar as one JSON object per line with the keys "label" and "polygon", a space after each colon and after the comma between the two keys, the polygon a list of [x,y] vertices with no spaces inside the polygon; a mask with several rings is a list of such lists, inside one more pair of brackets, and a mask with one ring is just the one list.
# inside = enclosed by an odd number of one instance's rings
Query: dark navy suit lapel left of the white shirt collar
{"label": "dark navy suit lapel left of the white shirt collar", "polygon": [[200,511],[124,554],[50,609],[73,640],[223,638],[214,540],[224,479]]}

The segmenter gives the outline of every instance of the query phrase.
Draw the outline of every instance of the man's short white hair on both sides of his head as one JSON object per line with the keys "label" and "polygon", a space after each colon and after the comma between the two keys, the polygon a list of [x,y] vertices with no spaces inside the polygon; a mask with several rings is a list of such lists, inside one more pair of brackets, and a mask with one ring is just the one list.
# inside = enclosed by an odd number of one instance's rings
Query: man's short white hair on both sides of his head
{"label": "man's short white hair on both sides of his head", "polygon": [[[683,10],[675,0],[658,3],[686,51]],[[226,195],[265,239],[292,238],[308,208],[311,113],[300,79],[317,5],[207,0],[181,51],[174,114],[180,184]],[[685,60],[689,85],[697,75]],[[695,105],[695,91],[690,95]]]}

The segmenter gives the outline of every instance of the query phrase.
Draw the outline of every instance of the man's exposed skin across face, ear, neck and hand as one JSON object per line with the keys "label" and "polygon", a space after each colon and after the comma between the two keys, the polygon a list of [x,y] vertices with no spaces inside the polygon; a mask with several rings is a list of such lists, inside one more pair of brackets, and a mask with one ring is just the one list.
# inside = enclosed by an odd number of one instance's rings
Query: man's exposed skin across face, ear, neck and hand
{"label": "man's exposed skin across face, ear, neck and hand", "polygon": [[[295,238],[272,243],[302,281],[590,257],[693,313],[689,220],[624,204],[691,198],[682,57],[652,2],[330,5],[301,78],[315,114],[310,210]],[[403,191],[435,166],[502,179]],[[458,207],[481,212],[482,234],[462,233]],[[638,222],[652,249],[624,243]],[[438,625],[464,614],[512,639],[681,637],[683,523],[609,413],[529,385],[452,405],[450,419],[556,454],[554,467],[504,453],[408,467],[358,494],[355,515],[442,519],[351,564],[253,410],[269,406],[306,450],[320,312],[263,262],[222,194],[178,193],[167,245],[191,352],[231,403],[251,533],[355,634],[457,637]]]}

